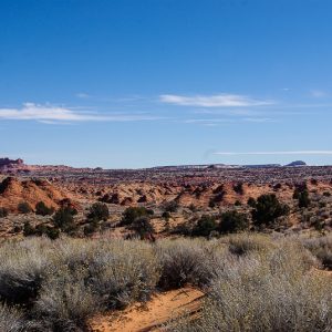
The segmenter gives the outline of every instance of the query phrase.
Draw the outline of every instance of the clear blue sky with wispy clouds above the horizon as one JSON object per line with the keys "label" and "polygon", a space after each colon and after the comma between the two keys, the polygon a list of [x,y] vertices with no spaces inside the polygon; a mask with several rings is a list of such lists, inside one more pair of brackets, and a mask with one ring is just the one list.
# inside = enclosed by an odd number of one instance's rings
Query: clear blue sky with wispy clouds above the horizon
{"label": "clear blue sky with wispy clouds above the horizon", "polygon": [[0,155],[332,164],[330,0],[1,0]]}

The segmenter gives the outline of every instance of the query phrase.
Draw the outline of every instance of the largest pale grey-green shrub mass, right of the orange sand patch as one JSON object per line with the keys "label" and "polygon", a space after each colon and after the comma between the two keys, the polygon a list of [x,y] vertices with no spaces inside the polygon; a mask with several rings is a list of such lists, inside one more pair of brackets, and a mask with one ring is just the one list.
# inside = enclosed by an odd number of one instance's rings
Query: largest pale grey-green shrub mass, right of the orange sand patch
{"label": "largest pale grey-green shrub mass, right of the orange sand patch", "polygon": [[172,331],[331,331],[332,283],[308,272],[315,260],[299,242],[281,240],[224,267],[211,282],[199,319]]}

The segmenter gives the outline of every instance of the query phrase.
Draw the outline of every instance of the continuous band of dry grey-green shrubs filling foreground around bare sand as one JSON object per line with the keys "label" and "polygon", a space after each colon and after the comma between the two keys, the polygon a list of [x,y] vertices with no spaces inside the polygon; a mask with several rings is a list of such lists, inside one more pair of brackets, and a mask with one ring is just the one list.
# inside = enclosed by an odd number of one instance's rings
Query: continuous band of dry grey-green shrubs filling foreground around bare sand
{"label": "continuous band of dry grey-green shrubs filling foreground around bare sand", "polygon": [[331,252],[331,237],[253,232],[153,245],[7,241],[0,247],[0,331],[89,331],[86,321],[97,312],[186,284],[206,292],[201,313],[185,314],[168,331],[330,331],[331,277],[313,268],[326,263],[322,252]]}

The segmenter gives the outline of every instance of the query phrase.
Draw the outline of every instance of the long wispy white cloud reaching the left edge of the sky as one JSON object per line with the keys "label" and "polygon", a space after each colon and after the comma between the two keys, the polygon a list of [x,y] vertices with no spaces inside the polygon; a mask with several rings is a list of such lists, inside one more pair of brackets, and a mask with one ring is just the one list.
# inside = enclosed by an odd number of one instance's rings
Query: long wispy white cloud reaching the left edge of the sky
{"label": "long wispy white cloud reaching the left edge of the sky", "polygon": [[160,117],[145,114],[100,114],[77,111],[51,104],[25,103],[21,108],[0,108],[0,120],[39,121],[45,124],[69,122],[134,122],[153,121]]}

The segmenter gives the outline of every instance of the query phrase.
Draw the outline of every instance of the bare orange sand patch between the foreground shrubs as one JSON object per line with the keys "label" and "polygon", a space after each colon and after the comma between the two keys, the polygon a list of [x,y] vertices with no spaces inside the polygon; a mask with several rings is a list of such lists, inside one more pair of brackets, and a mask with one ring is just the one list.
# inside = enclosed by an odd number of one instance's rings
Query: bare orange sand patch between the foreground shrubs
{"label": "bare orange sand patch between the foreground shrubs", "polygon": [[154,295],[145,304],[135,303],[123,311],[97,315],[90,322],[94,332],[147,332],[184,312],[196,312],[204,293],[194,288],[183,288]]}

